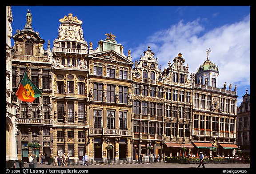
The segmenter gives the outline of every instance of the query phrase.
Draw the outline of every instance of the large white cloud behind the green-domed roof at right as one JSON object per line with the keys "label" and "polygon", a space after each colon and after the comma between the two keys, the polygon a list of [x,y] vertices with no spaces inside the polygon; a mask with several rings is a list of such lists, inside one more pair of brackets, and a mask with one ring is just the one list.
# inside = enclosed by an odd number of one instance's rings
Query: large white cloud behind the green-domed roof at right
{"label": "large white cloud behind the green-domed roof at right", "polygon": [[206,49],[211,48],[209,59],[219,67],[218,87],[232,83],[233,87],[250,86],[250,15],[243,21],[226,24],[205,31],[202,20],[172,25],[155,32],[138,47],[131,49],[133,61],[148,49],[148,45],[158,58],[161,69],[168,67],[168,61],[178,53],[183,55],[188,71],[196,72],[207,57]]}

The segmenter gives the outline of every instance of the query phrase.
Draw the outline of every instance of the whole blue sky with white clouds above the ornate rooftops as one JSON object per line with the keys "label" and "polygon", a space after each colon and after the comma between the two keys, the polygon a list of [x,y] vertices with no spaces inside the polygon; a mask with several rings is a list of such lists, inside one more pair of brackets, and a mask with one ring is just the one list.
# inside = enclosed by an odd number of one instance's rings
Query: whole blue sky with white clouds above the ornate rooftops
{"label": "whole blue sky with white clouds above the ornate rooftops", "polygon": [[196,72],[211,48],[218,87],[232,83],[233,91],[237,85],[238,106],[246,88],[250,94],[250,6],[12,6],[12,35],[24,28],[28,9],[44,49],[57,39],[59,19],[72,13],[83,21],[84,39],[94,49],[112,32],[125,55],[131,50],[133,62],[150,46],[162,70],[181,53],[188,71]]}

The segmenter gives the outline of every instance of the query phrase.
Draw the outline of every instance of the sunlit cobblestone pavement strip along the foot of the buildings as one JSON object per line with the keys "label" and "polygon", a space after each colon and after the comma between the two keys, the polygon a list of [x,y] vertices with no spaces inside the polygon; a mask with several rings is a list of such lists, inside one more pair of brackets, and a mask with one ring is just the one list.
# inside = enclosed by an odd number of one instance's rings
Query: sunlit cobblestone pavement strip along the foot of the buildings
{"label": "sunlit cobblestone pavement strip along the foot of the buildings", "polygon": [[[205,168],[225,168],[225,169],[239,169],[248,168],[250,169],[250,163],[226,163],[226,164],[215,164],[207,163],[204,164]],[[89,166],[52,166],[47,164],[37,163],[37,168],[50,168],[50,169],[92,169],[92,168],[197,168],[198,164],[171,164],[171,163],[144,163],[144,164],[101,164],[101,165],[89,165]],[[28,163],[24,163],[24,167],[28,168]],[[202,166],[200,166],[202,168]]]}

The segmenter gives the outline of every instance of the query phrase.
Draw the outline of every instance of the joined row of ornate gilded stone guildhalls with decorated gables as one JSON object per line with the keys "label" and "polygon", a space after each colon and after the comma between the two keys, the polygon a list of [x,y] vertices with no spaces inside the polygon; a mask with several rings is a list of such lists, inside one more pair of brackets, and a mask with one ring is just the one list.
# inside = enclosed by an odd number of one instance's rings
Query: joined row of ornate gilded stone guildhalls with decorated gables
{"label": "joined row of ornate gilded stone guildhalls with decorated gables", "polygon": [[[71,13],[59,20],[52,49],[49,41],[44,49],[30,15],[28,10],[24,29],[12,36],[7,59],[18,159],[33,153],[29,142],[42,145],[37,157],[68,153],[73,162],[84,153],[90,162],[106,162],[108,154],[127,161],[140,154],[145,160],[153,153],[179,156],[182,146],[192,155],[209,156],[211,148],[215,155],[234,154],[236,87],[217,88],[218,67],[208,56],[193,74],[180,53],[162,70],[150,47],[132,62],[131,51],[124,54],[112,33],[94,49]],[[25,70],[42,91],[33,103],[15,96]]]}

